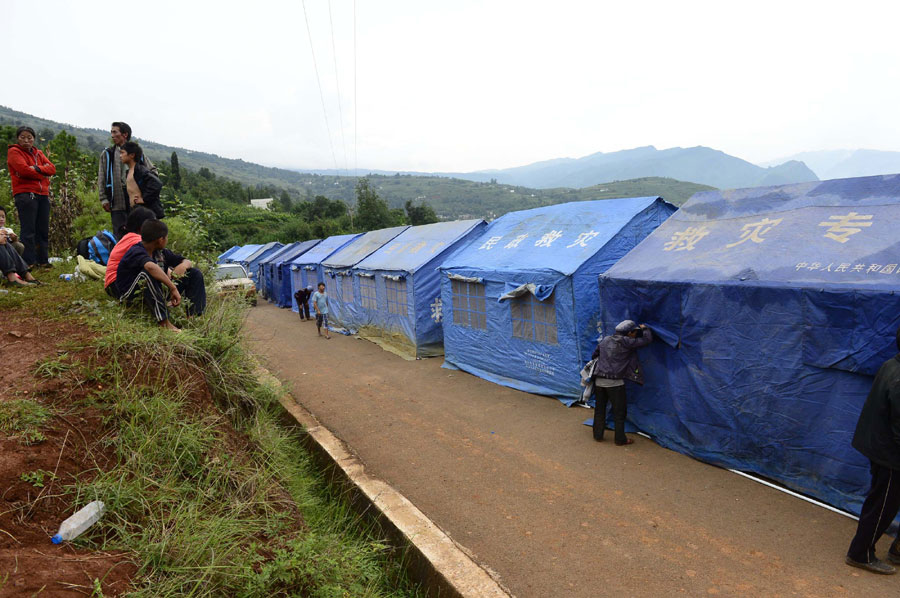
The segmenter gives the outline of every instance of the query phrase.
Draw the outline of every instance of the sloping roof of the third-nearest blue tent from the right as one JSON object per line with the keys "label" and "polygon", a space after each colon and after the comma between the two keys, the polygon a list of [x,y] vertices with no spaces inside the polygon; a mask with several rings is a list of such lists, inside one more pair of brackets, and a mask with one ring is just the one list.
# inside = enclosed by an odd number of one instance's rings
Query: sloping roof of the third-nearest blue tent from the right
{"label": "sloping roof of the third-nearest blue tent from the right", "polygon": [[483,222],[484,220],[457,220],[411,226],[356,267],[364,270],[415,272]]}

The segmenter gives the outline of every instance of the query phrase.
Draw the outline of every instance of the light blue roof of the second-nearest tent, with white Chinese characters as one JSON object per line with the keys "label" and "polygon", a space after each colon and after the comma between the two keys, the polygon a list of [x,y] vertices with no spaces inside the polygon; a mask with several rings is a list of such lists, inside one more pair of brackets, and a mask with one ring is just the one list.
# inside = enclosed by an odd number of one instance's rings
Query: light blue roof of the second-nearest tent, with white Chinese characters
{"label": "light blue roof of the second-nearest tent, with white Chinese characters", "polygon": [[510,212],[492,222],[441,268],[572,274],[657,201],[663,200],[653,196],[577,201]]}

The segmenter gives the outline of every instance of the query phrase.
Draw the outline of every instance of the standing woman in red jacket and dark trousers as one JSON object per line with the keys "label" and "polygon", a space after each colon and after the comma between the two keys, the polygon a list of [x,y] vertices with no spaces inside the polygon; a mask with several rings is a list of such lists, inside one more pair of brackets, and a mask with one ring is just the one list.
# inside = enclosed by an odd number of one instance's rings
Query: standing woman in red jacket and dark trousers
{"label": "standing woman in red jacket and dark trousers", "polygon": [[22,259],[29,267],[49,267],[50,177],[56,174],[56,166],[34,147],[34,137],[34,129],[19,127],[6,163],[19,214],[19,239],[25,245]]}

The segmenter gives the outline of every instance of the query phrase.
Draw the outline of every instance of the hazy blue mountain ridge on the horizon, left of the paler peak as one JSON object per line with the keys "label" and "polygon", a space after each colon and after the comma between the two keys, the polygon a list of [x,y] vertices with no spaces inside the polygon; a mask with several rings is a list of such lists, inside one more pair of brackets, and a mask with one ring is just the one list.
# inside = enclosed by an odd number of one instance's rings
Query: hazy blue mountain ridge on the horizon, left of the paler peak
{"label": "hazy blue mountain ridge on the horizon, left of the paler peak", "polygon": [[580,188],[604,181],[642,177],[667,177],[720,189],[818,180],[816,174],[799,161],[763,168],[702,146],[665,150],[646,146],[619,152],[601,152],[577,159],[536,162],[503,170],[452,173],[452,176],[477,181],[496,179],[498,183],[537,189]]}

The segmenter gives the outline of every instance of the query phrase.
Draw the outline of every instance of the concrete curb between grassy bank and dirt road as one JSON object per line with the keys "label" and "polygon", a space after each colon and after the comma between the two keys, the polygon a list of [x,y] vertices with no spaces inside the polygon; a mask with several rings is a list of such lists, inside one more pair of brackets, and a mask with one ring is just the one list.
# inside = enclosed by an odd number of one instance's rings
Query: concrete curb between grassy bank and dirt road
{"label": "concrete curb between grassy bank and dirt road", "polygon": [[513,598],[494,576],[475,562],[405,496],[366,473],[362,461],[315,416],[284,390],[269,372],[260,376],[282,389],[279,400],[305,431],[306,447],[322,462],[332,481],[347,488],[351,502],[399,546],[407,549],[406,569],[429,596]]}

